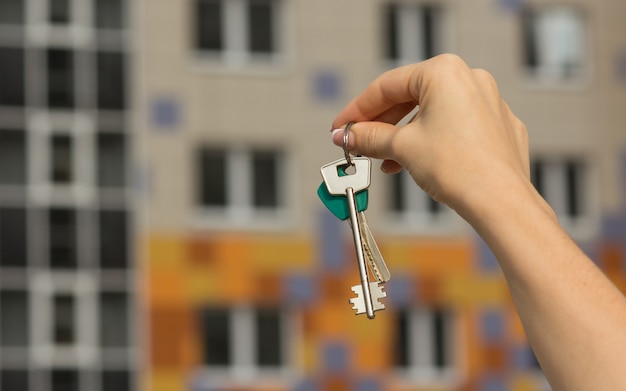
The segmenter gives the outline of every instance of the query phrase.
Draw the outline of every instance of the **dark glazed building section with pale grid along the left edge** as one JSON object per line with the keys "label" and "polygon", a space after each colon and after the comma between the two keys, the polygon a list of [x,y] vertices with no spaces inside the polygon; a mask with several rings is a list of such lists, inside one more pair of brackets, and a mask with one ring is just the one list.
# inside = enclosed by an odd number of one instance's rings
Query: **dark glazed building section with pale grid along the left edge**
{"label": "dark glazed building section with pale grid along the left edge", "polygon": [[0,390],[137,389],[132,26],[0,1]]}

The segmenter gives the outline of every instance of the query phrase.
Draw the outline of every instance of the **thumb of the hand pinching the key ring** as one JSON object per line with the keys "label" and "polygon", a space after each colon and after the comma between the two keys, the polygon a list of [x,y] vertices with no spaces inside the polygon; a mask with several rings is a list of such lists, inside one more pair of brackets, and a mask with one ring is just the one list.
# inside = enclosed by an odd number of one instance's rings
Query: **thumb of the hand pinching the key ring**
{"label": "thumb of the hand pinching the key ring", "polygon": [[[395,160],[392,141],[398,130],[386,122],[357,122],[348,132],[348,150],[354,155]],[[345,128],[332,131],[333,144],[343,147]]]}

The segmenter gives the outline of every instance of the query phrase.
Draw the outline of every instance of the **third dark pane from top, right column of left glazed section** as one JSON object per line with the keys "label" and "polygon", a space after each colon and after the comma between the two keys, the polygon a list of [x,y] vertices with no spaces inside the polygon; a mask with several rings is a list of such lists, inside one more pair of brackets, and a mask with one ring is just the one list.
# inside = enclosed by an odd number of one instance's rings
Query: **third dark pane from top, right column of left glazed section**
{"label": "third dark pane from top, right column of left glazed section", "polygon": [[115,133],[98,134],[98,185],[126,186],[126,136]]}

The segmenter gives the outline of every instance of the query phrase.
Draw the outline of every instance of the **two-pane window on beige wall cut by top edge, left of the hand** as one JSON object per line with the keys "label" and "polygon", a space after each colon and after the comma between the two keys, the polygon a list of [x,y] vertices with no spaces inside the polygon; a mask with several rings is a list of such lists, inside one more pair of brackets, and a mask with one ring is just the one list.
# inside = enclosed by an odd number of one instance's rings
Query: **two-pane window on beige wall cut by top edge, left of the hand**
{"label": "two-pane window on beige wall cut by top edge, left of the hand", "polygon": [[195,0],[195,47],[226,61],[280,52],[280,0]]}

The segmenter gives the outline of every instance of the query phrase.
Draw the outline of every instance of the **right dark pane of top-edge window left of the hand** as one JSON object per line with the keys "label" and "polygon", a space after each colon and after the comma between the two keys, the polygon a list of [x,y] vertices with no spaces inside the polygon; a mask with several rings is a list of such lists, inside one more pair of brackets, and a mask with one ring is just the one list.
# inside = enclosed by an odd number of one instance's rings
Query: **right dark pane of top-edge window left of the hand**
{"label": "right dark pane of top-edge window left of the hand", "polygon": [[248,8],[248,43],[253,53],[272,53],[274,32],[272,18],[273,0],[250,0]]}

